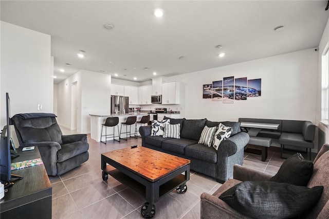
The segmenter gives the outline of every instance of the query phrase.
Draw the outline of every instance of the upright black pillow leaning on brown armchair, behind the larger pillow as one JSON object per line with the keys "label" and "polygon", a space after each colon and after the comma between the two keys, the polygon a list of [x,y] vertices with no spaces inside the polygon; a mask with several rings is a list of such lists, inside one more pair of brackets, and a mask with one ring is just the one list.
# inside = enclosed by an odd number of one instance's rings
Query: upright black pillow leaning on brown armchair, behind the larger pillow
{"label": "upright black pillow leaning on brown armchair, behind the larger pillow", "polygon": [[288,157],[278,173],[270,181],[285,182],[295,186],[307,186],[313,174],[313,162],[304,160],[300,153]]}

